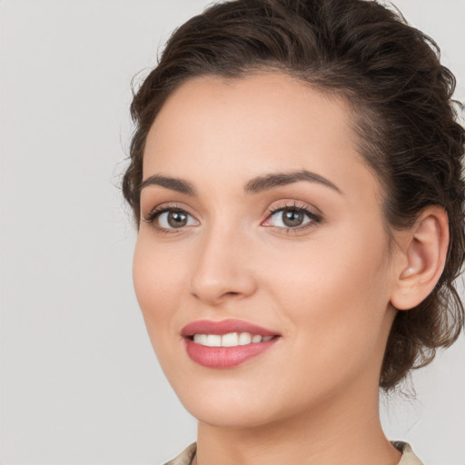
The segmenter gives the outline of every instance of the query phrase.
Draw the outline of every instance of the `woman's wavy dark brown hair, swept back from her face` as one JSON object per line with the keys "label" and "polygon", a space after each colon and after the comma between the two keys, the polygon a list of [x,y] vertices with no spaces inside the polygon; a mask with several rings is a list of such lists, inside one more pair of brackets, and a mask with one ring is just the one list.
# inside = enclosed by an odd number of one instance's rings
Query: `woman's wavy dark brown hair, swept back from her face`
{"label": "woman's wavy dark brown hair, swept back from her face", "polygon": [[147,133],[166,98],[194,76],[240,78],[276,69],[351,104],[360,153],[384,190],[392,228],[410,226],[427,205],[449,215],[447,262],[433,292],[398,312],[380,385],[394,387],[455,341],[464,310],[454,280],[464,260],[465,131],[451,100],[455,79],[439,47],[401,15],[368,0],[235,0],[179,27],[131,105],[135,123],[123,193],[140,222]]}

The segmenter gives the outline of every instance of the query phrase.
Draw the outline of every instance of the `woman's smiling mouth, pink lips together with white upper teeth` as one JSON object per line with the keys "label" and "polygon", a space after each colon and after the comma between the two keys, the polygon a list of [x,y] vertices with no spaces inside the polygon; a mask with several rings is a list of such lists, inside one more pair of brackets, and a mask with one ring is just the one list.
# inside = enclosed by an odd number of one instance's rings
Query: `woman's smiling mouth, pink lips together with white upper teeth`
{"label": "woman's smiling mouth, pink lips together with white upper teeth", "polygon": [[239,320],[192,322],[181,331],[187,355],[208,368],[230,368],[268,351],[281,335]]}

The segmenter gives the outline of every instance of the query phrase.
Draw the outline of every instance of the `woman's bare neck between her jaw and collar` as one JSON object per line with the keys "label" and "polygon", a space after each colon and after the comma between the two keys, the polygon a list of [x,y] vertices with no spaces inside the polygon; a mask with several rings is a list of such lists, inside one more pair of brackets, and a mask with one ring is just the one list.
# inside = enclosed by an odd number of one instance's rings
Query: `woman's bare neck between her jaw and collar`
{"label": "woman's bare neck between her jaw and collar", "polygon": [[349,390],[345,394],[264,426],[220,428],[200,421],[198,465],[396,465],[401,453],[381,429],[378,391],[371,398],[355,392],[356,402]]}

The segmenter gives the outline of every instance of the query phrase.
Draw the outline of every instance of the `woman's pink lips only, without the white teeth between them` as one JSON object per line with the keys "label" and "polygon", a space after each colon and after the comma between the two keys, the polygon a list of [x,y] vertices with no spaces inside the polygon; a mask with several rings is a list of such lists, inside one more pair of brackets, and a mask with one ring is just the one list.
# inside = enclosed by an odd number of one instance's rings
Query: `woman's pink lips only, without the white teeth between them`
{"label": "woman's pink lips only, without the white teeth between them", "polygon": [[186,325],[181,334],[184,337],[187,355],[198,363],[208,368],[230,368],[240,365],[257,355],[268,351],[279,339],[274,337],[270,341],[256,342],[236,347],[207,347],[197,344],[190,339],[193,334],[228,334],[230,332],[250,332],[261,336],[279,336],[275,331],[266,330],[260,326],[240,320],[223,320],[213,322],[201,320]]}

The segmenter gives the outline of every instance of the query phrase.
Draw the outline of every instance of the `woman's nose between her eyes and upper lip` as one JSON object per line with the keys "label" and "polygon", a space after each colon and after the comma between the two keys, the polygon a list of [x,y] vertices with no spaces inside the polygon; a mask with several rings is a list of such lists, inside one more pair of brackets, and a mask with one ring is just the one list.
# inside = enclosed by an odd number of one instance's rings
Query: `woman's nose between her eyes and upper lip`
{"label": "woman's nose between her eyes and upper lip", "polygon": [[256,290],[250,257],[251,241],[235,228],[218,227],[200,239],[193,263],[193,296],[209,305],[242,299]]}

